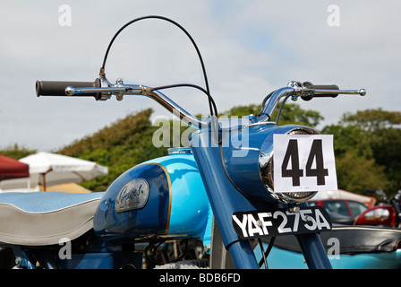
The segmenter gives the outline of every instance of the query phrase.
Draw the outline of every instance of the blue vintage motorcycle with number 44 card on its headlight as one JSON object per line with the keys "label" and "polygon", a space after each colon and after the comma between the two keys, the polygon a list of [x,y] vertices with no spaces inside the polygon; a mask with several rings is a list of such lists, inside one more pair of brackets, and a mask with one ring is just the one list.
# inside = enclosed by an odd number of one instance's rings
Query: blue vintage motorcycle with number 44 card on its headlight
{"label": "blue vintage motorcycle with number 44 card on its headlight", "polygon": [[[331,173],[325,160],[334,152],[327,154],[323,147],[327,138],[315,129],[278,126],[277,121],[287,99],[363,96],[366,91],[290,82],[265,97],[258,115],[238,122],[218,118],[201,57],[205,89],[189,83],[160,87],[127,84],[122,79],[110,83],[105,66],[115,38],[144,19],[163,20],[183,30],[200,57],[181,25],[166,17],[145,16],[116,32],[94,82],[38,81],[37,96],[148,97],[195,129],[189,136],[190,148],[173,149],[166,157],[126,170],[105,192],[0,194],[0,247],[13,250],[15,267],[182,268],[209,263],[211,268],[258,269],[268,267],[269,248],[265,250],[262,239],[291,235],[309,268],[331,268],[319,235],[332,229],[330,218],[320,206],[306,203],[320,187],[305,186],[301,179],[312,178],[315,186],[324,186]],[[206,94],[209,117],[194,117],[162,93],[183,86]],[[278,116],[272,121],[280,100]],[[281,158],[277,156],[280,146],[284,148]],[[300,167],[305,149],[309,163]],[[276,165],[279,161],[281,169]],[[292,183],[289,191],[277,188],[281,184],[277,172]]]}

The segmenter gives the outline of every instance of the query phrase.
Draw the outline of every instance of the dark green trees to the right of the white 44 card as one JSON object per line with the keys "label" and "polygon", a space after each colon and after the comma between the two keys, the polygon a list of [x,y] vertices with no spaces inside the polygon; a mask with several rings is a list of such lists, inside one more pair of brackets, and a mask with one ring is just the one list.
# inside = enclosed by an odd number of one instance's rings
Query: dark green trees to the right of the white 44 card
{"label": "dark green trees to the right of the white 44 card", "polygon": [[[346,170],[341,170],[345,165],[338,166],[339,184],[346,186],[346,180],[350,180],[352,175],[356,178],[357,174],[363,174],[364,186],[368,185],[370,178],[378,178],[368,188],[387,189],[388,194],[401,189],[400,124],[400,112],[366,109],[354,114],[346,113],[338,125],[326,126],[322,132],[335,135],[337,160],[354,161],[354,167],[348,165]],[[345,171],[350,173],[349,176],[345,176]]]}

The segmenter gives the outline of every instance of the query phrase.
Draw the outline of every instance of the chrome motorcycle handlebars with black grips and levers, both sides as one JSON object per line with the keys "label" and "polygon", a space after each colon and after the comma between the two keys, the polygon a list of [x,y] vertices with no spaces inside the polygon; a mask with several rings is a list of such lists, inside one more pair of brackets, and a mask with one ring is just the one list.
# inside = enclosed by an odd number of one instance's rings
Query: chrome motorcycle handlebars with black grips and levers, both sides
{"label": "chrome motorcycle handlebars with black grips and levers, both sides", "polygon": [[[93,96],[96,100],[108,100],[112,95],[115,95],[117,100],[123,100],[124,95],[142,95],[157,101],[188,126],[200,129],[209,125],[209,121],[192,116],[191,113],[181,108],[155,88],[124,84],[121,79],[118,79],[115,84],[110,84],[106,77],[96,79],[94,82],[37,81],[36,91],[37,96]],[[257,118],[257,122],[269,121],[279,100],[283,97],[292,97],[292,100],[297,100],[299,97],[303,100],[311,100],[313,97],[337,97],[338,94],[359,94],[364,96],[366,91],[364,89],[340,90],[335,84],[313,85],[310,82],[299,83],[293,81],[288,83],[286,87],[271,93],[266,106],[260,113],[260,117]],[[212,122],[214,122],[212,125],[215,126],[216,121],[213,119],[214,117],[211,118]]]}

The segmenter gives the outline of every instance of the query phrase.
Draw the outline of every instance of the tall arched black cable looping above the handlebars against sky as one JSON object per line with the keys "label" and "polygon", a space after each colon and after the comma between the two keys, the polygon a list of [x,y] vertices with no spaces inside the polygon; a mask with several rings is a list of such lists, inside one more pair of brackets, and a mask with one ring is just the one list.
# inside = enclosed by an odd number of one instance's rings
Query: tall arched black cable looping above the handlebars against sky
{"label": "tall arched black cable looping above the handlebars against sky", "polygon": [[200,65],[201,65],[201,67],[202,67],[203,77],[204,77],[204,79],[205,79],[206,91],[208,91],[207,94],[209,95],[209,109],[210,109],[210,115],[211,115],[211,116],[218,116],[218,114],[216,114],[216,115],[213,114],[212,101],[210,100],[211,97],[210,97],[210,91],[209,91],[208,76],[207,76],[207,74],[206,74],[205,65],[203,64],[203,59],[202,59],[202,57],[201,57],[201,55],[200,55],[200,50],[199,50],[198,46],[196,45],[195,41],[192,39],[192,36],[190,35],[190,33],[189,33],[187,30],[185,30],[185,29],[183,28],[183,26],[181,26],[180,24],[178,24],[177,22],[175,22],[175,21],[173,21],[173,20],[171,20],[171,19],[169,19],[169,18],[166,18],[166,17],[163,17],[163,16],[158,16],[158,15],[149,15],[149,16],[143,16],[143,17],[140,17],[140,18],[136,18],[136,19],[134,19],[134,20],[132,20],[132,21],[130,21],[130,22],[127,22],[123,27],[120,28],[120,30],[118,30],[118,31],[115,33],[115,36],[113,37],[113,39],[111,39],[110,43],[108,44],[108,47],[107,47],[107,50],[106,50],[106,54],[105,54],[105,57],[104,57],[104,59],[103,59],[103,64],[102,64],[102,66],[101,66],[101,68],[100,68],[100,73],[99,73],[99,74],[100,74],[101,76],[104,76],[104,75],[105,75],[105,67],[106,67],[106,61],[107,61],[108,52],[110,51],[110,48],[111,48],[111,46],[113,45],[113,43],[114,43],[114,41],[115,41],[115,38],[117,38],[117,36],[118,36],[126,27],[128,27],[128,26],[131,25],[132,23],[138,22],[138,21],[141,21],[141,20],[145,20],[145,19],[159,19],[159,20],[164,20],[164,21],[166,21],[166,22],[171,22],[171,23],[175,24],[175,26],[177,26],[178,28],[180,28],[181,30],[183,30],[183,32],[186,34],[186,36],[187,36],[189,39],[191,39],[192,45],[193,45],[193,47],[196,49],[196,52],[197,52],[198,57],[199,57],[199,59],[200,59]]}

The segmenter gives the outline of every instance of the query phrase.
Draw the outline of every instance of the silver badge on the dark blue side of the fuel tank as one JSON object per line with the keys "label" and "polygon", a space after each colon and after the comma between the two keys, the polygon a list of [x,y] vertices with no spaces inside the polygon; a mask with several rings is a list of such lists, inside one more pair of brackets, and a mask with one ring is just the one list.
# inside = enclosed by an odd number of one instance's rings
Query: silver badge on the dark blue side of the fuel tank
{"label": "silver badge on the dark blue side of the fuel tank", "polygon": [[148,202],[149,184],[143,178],[136,178],[121,188],[115,198],[115,211],[122,213],[132,209],[140,209]]}

